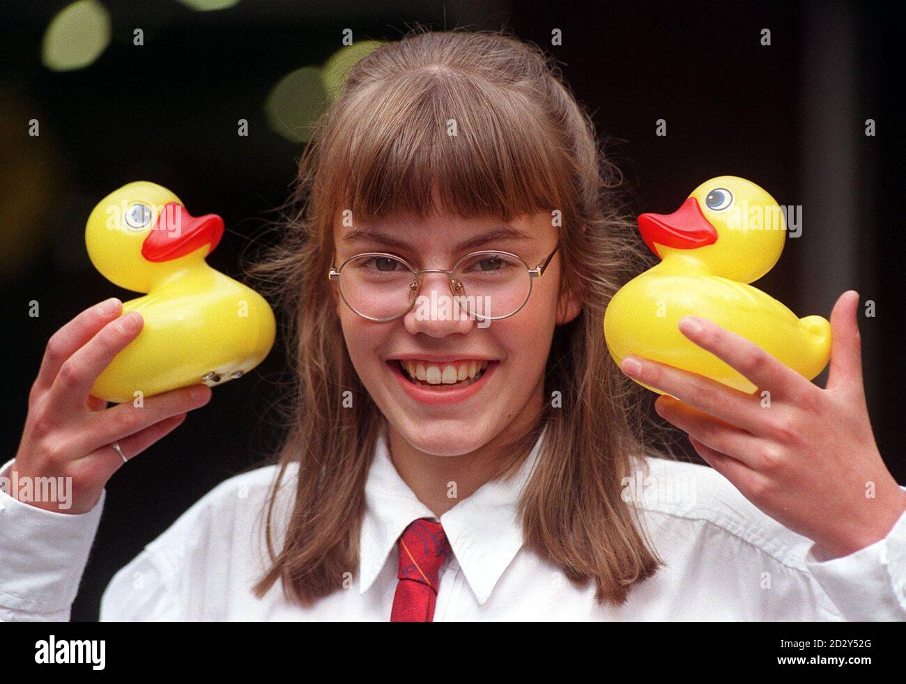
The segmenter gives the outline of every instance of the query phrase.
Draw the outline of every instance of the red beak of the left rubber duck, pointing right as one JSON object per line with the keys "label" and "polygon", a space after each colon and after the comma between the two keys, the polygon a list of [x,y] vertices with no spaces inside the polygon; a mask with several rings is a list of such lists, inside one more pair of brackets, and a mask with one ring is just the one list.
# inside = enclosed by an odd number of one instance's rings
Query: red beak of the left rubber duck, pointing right
{"label": "red beak of the left rubber duck, pointing right", "polygon": [[170,261],[207,245],[209,255],[224,234],[224,219],[217,214],[193,217],[176,202],[160,210],[157,224],[141,244],[141,255],[149,261]]}

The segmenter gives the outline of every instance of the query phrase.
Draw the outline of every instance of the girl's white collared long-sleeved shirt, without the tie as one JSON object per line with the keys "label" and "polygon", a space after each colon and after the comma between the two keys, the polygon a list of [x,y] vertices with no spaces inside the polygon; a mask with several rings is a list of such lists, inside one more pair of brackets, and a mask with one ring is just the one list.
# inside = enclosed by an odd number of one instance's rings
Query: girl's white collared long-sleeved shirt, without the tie
{"label": "girl's white collared long-sleeved shirt, without the tie", "polygon": [[[906,620],[906,514],[882,540],[822,562],[816,546],[761,513],[711,468],[646,459],[624,483],[666,567],[622,606],[594,600],[522,545],[516,504],[540,438],[517,477],[489,482],[440,516],[453,554],[440,571],[435,621]],[[12,461],[0,468],[5,475]],[[294,468],[278,496],[285,525]],[[257,599],[265,568],[261,523],[277,467],[221,483],[123,567],[101,601],[102,621],[389,621],[396,540],[435,518],[390,460],[381,435],[366,483],[358,568],[344,589],[302,607],[279,583]],[[0,620],[67,620],[106,491],[68,515],[0,492]],[[95,548],[94,553],[103,553]]]}

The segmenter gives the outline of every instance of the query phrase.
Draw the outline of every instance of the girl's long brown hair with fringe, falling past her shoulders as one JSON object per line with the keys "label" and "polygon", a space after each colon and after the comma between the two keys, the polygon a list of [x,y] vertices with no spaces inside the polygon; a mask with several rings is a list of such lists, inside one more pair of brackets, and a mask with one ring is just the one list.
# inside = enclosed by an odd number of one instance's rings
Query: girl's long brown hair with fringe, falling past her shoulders
{"label": "girl's long brown hair with fringe, falling past her shoulders", "polygon": [[526,548],[576,583],[593,581],[599,602],[624,602],[660,559],[621,498],[631,455],[651,452],[640,438],[649,418],[643,390],[607,352],[602,320],[612,294],[646,261],[615,194],[618,173],[559,67],[506,31],[418,27],[354,66],[311,140],[280,242],[250,269],[284,316],[294,382],[277,482],[298,464],[278,540],[276,486],[267,506],[272,565],[256,595],[280,580],[291,599],[310,604],[358,568],[365,479],[384,419],[354,371],[326,276],[342,210],[356,219],[407,212],[505,221],[559,210],[561,287],[582,312],[557,327],[546,365],[545,396],[559,392],[562,406],[545,401],[542,420],[514,450],[524,458],[547,427],[518,511]]}

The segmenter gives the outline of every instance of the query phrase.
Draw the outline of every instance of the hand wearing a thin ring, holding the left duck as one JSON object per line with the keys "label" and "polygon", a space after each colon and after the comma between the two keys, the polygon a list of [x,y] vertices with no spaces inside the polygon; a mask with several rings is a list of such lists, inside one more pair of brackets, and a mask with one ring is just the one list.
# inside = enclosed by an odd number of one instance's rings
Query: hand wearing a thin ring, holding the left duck
{"label": "hand wearing a thin ring, holding the left duck", "polygon": [[[141,331],[141,314],[120,317],[113,298],[95,304],[55,332],[44,352],[41,370],[28,395],[28,416],[19,450],[8,473],[23,477],[72,477],[72,498],[25,501],[46,510],[78,514],[90,511],[123,460],[111,442],[132,458],[175,429],[189,410],[207,404],[211,390],[199,383],[144,400],[107,408],[91,394],[94,381],[120,350]],[[129,323],[135,324],[130,327]],[[40,480],[32,480],[38,482]],[[10,492],[16,496],[16,492]]]}

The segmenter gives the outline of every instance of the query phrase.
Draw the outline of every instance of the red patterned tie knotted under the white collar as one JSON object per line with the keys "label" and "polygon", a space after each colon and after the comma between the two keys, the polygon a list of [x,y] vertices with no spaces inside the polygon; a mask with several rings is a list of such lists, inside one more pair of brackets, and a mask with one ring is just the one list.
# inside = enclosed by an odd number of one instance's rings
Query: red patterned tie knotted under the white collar
{"label": "red patterned tie knotted under the white collar", "polygon": [[393,596],[391,622],[432,622],[440,586],[440,566],[450,553],[444,528],[419,518],[400,535],[400,581]]}

